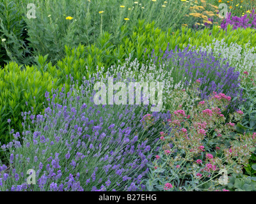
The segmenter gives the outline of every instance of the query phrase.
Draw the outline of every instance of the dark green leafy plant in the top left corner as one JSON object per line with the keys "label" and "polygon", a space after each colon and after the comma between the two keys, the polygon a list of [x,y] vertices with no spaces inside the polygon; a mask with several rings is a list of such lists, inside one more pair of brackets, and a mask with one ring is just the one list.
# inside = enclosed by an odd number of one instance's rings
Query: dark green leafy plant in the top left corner
{"label": "dark green leafy plant in the top left corner", "polygon": [[[19,1],[0,1],[0,66],[8,61],[29,64],[32,61],[31,48],[28,47],[28,32],[22,3]],[[3,40],[3,41],[2,41]],[[4,41],[5,40],[5,41]]]}

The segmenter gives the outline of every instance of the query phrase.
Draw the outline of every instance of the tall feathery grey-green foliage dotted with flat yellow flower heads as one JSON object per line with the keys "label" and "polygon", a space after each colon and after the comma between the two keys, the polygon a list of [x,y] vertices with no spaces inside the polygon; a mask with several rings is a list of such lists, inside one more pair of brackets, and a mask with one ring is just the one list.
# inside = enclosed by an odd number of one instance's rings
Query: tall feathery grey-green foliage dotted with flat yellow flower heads
{"label": "tall feathery grey-green foliage dotted with flat yellow flower heads", "polygon": [[[32,2],[24,1],[24,13],[26,3]],[[91,45],[101,36],[102,31],[112,34],[112,41],[117,47],[123,34],[122,27],[128,27],[126,34],[132,34],[131,28],[139,19],[146,19],[146,23],[155,20],[156,26],[164,30],[171,26],[180,27],[182,15],[188,11],[190,4],[189,1],[184,3],[179,0],[164,5],[160,1],[146,0],[140,4],[128,0],[54,0],[34,3],[36,18],[24,17],[28,24],[29,46],[33,48],[34,55],[49,54],[48,60],[53,64],[64,56],[65,45],[72,48],[79,43]]]}

